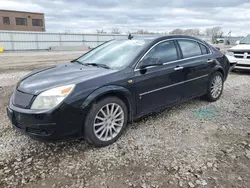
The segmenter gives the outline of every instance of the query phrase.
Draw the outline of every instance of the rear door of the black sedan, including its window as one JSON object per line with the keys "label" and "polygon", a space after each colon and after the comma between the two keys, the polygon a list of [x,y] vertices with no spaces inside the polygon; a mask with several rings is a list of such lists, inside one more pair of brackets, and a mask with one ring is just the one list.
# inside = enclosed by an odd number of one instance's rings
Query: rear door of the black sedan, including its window
{"label": "rear door of the black sedan, including its window", "polygon": [[213,70],[211,51],[204,44],[191,39],[177,40],[183,60],[183,98],[202,95],[207,90],[208,75]]}

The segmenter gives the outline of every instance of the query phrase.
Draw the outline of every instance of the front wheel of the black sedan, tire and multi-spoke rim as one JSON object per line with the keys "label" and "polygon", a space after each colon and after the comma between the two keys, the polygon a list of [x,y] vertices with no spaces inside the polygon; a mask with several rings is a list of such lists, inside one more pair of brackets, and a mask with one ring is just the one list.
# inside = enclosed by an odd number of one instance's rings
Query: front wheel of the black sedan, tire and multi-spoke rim
{"label": "front wheel of the black sedan, tire and multi-spoke rim", "polygon": [[[113,116],[111,115],[112,108],[113,114],[115,114]],[[109,112],[110,115],[108,115]],[[117,115],[118,117],[116,118],[115,116]],[[122,100],[117,97],[103,98],[91,106],[86,116],[84,122],[85,140],[96,147],[110,145],[122,135],[127,121],[128,109]]]}

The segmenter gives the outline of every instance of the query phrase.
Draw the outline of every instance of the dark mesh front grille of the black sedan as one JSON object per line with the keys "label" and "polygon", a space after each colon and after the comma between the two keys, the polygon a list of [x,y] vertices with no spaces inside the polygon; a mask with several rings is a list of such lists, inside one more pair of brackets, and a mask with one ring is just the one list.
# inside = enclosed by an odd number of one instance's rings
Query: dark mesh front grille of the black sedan
{"label": "dark mesh front grille of the black sedan", "polygon": [[33,95],[15,90],[13,96],[13,104],[20,108],[29,108],[33,97]]}

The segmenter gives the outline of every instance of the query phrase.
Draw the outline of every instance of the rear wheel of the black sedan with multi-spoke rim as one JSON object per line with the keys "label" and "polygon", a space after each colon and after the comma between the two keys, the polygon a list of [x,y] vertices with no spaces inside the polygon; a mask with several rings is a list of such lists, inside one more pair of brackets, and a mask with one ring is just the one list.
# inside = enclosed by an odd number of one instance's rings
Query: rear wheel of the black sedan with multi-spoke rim
{"label": "rear wheel of the black sedan with multi-spoke rim", "polygon": [[[221,81],[221,85],[219,84],[220,82],[219,80]],[[217,83],[218,88],[220,88],[216,90],[218,93],[215,90],[214,92],[212,91],[213,88],[215,87],[214,86],[215,83]],[[224,88],[224,77],[221,72],[215,72],[214,74],[212,74],[212,76],[209,79],[207,94],[205,95],[206,100],[209,102],[217,101],[222,95],[223,88]]]}

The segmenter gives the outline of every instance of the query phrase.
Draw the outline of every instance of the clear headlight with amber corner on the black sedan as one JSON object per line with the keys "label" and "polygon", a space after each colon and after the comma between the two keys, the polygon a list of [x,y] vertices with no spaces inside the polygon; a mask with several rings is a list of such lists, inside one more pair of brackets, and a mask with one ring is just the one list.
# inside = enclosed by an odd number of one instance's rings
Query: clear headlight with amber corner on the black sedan
{"label": "clear headlight with amber corner on the black sedan", "polygon": [[31,109],[51,109],[60,104],[74,89],[75,85],[66,85],[42,92],[33,102]]}

